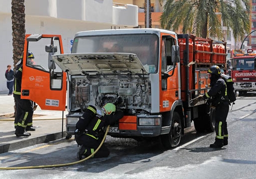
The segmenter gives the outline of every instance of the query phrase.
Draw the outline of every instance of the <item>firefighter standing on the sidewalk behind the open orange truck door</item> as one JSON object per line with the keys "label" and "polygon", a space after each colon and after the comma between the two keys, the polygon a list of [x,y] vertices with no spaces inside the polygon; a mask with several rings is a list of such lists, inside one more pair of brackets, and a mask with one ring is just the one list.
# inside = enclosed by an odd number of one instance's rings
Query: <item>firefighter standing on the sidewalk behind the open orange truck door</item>
{"label": "firefighter standing on the sidewalk behind the open orange truck door", "polygon": [[[31,51],[28,51],[28,59],[34,59]],[[33,102],[31,100],[21,99],[21,84],[22,84],[22,70],[23,70],[23,55],[16,65],[14,74],[14,98],[16,101],[16,115],[15,115],[15,135],[17,137],[29,137],[31,133],[27,131],[35,131],[32,126],[33,118]]]}

